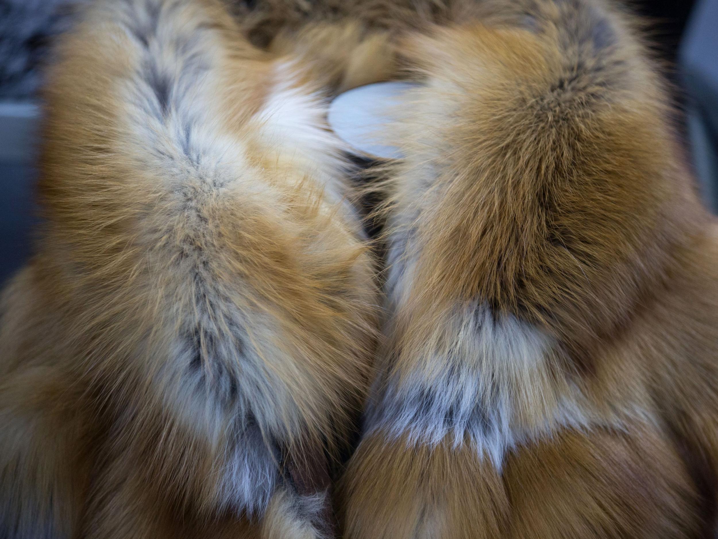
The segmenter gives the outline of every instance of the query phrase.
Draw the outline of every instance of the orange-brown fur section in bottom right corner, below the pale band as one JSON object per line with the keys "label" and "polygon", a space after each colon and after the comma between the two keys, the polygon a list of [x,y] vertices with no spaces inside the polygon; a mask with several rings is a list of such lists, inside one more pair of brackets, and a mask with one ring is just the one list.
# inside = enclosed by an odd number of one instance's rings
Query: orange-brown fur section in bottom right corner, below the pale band
{"label": "orange-brown fur section in bottom right corner, below the pale band", "polygon": [[630,434],[561,433],[508,456],[507,537],[696,537],[695,488],[670,442]]}

